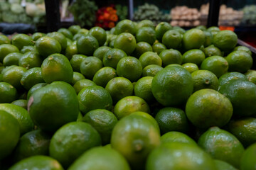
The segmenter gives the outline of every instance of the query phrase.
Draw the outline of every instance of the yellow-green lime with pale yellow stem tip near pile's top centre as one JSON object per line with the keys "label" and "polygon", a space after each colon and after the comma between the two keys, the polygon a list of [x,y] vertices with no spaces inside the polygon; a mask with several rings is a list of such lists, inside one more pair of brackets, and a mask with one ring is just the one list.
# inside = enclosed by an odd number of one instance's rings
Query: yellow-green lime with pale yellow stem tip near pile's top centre
{"label": "yellow-green lime with pale yellow stem tip near pile's top centre", "polygon": [[132,54],[136,48],[136,40],[134,35],[130,33],[121,33],[114,39],[114,48],[124,50],[127,55]]}

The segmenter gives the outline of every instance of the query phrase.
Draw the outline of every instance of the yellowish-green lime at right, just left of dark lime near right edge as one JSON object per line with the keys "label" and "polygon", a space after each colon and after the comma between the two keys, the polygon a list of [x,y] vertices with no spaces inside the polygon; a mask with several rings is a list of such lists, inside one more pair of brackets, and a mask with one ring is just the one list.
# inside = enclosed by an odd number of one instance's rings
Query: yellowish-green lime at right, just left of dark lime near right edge
{"label": "yellowish-green lime at right, just left of dark lime near right edge", "polygon": [[200,68],[213,72],[217,77],[220,77],[228,72],[228,67],[228,61],[224,57],[211,56],[203,60]]}

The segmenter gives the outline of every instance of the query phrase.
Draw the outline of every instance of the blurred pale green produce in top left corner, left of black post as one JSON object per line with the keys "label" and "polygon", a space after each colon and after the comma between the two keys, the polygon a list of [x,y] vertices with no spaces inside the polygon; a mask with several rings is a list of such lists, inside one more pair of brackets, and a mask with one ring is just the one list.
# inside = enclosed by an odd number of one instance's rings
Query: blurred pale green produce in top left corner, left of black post
{"label": "blurred pale green produce in top left corner, left of black post", "polygon": [[46,7],[43,0],[1,0],[0,22],[42,23],[45,22]]}

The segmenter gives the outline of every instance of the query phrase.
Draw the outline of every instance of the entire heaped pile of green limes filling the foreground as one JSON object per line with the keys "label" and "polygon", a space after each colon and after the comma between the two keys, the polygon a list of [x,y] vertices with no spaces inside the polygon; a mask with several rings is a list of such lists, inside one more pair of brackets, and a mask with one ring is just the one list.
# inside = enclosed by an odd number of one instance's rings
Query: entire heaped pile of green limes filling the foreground
{"label": "entire heaped pile of green limes filling the foreground", "polygon": [[256,169],[256,71],[237,42],[149,20],[0,35],[0,169]]}

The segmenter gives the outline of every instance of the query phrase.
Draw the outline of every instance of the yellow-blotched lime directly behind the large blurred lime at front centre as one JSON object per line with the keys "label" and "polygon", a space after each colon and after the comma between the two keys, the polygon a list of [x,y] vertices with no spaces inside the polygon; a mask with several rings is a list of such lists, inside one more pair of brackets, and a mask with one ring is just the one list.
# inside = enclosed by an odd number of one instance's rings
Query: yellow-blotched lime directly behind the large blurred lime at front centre
{"label": "yellow-blotched lime directly behind the large blurred lime at front centre", "polygon": [[124,97],[114,106],[114,115],[117,116],[117,119],[124,118],[137,111],[150,113],[149,105],[138,96]]}

